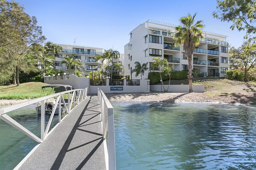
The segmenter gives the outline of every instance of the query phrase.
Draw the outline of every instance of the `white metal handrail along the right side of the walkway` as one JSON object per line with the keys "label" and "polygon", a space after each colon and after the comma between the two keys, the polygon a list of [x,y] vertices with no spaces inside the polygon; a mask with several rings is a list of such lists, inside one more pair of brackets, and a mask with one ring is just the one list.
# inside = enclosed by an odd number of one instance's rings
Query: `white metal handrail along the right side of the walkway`
{"label": "white metal handrail along the right side of the walkway", "polygon": [[[115,126],[114,126],[114,109],[107,99],[104,92],[98,88],[98,100],[100,104],[102,133],[104,142],[108,134],[107,162],[106,167],[109,170],[116,170],[116,148],[115,148]],[[106,113],[107,111],[107,113]],[[107,117],[106,117],[107,114]],[[108,163],[108,164],[107,164]]]}

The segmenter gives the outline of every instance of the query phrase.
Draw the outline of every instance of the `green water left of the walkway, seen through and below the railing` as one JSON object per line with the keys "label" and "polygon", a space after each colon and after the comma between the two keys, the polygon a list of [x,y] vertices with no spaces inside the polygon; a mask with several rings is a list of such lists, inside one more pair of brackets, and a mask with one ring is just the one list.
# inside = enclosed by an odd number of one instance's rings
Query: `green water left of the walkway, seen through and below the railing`
{"label": "green water left of the walkway, seen through and below the railing", "polygon": [[[7,113],[40,138],[41,117],[36,113],[36,104]],[[45,116],[45,127],[50,115]],[[50,130],[58,123],[54,115]],[[0,119],[0,170],[12,170],[38,143]]]}

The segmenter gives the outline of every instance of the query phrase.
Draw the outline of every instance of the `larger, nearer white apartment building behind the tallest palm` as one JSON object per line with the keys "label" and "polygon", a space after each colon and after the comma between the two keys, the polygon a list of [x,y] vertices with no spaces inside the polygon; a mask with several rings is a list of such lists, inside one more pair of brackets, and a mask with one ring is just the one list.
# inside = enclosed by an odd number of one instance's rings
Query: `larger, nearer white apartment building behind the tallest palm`
{"label": "larger, nearer white apartment building behind the tallest palm", "polygon": [[[188,60],[182,47],[175,47],[175,26],[166,23],[146,21],[130,32],[130,42],[125,45],[125,73],[131,75],[134,62],[147,63],[148,68],[153,58],[167,58],[173,71],[188,69]],[[199,76],[225,77],[228,64],[228,43],[225,35],[203,32],[203,39],[193,54],[193,70]],[[127,71],[128,69],[128,71]],[[148,78],[147,70],[143,78]],[[135,78],[135,73],[132,73]]]}

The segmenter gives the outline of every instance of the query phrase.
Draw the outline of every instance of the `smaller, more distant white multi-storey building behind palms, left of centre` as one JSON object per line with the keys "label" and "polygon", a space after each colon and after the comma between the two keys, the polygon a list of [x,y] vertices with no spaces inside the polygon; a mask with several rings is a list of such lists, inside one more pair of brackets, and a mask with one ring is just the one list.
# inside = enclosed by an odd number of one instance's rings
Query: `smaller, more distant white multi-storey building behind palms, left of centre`
{"label": "smaller, more distant white multi-storey building behind palms, left of centre", "polygon": [[[88,75],[89,72],[93,71],[99,71],[103,68],[104,64],[107,64],[107,61],[105,60],[103,62],[96,61],[95,55],[102,55],[102,48],[96,48],[96,47],[88,47],[88,46],[75,46],[75,45],[65,45],[65,44],[57,44],[58,46],[61,46],[63,50],[61,53],[55,55],[55,69],[56,70],[63,70],[67,74],[70,72],[74,72],[74,66],[71,67],[69,70],[66,67],[66,64],[61,64],[61,61],[65,60],[64,57],[74,55],[74,57],[77,60],[80,60],[83,63],[83,67],[85,68],[85,72],[80,69],[81,72],[84,73],[84,75]],[[124,58],[124,54],[120,54],[118,58],[113,58],[113,63],[121,63]],[[124,62],[124,61],[123,61]],[[112,61],[110,61],[110,65],[112,64]]]}

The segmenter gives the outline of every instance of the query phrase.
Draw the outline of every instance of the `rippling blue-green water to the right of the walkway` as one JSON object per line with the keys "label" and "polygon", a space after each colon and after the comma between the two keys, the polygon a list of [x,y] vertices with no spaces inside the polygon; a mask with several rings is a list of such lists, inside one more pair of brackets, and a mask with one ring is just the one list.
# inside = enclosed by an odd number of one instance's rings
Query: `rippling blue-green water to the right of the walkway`
{"label": "rippling blue-green water to the right of the walkway", "polygon": [[256,107],[112,105],[117,170],[256,169]]}

